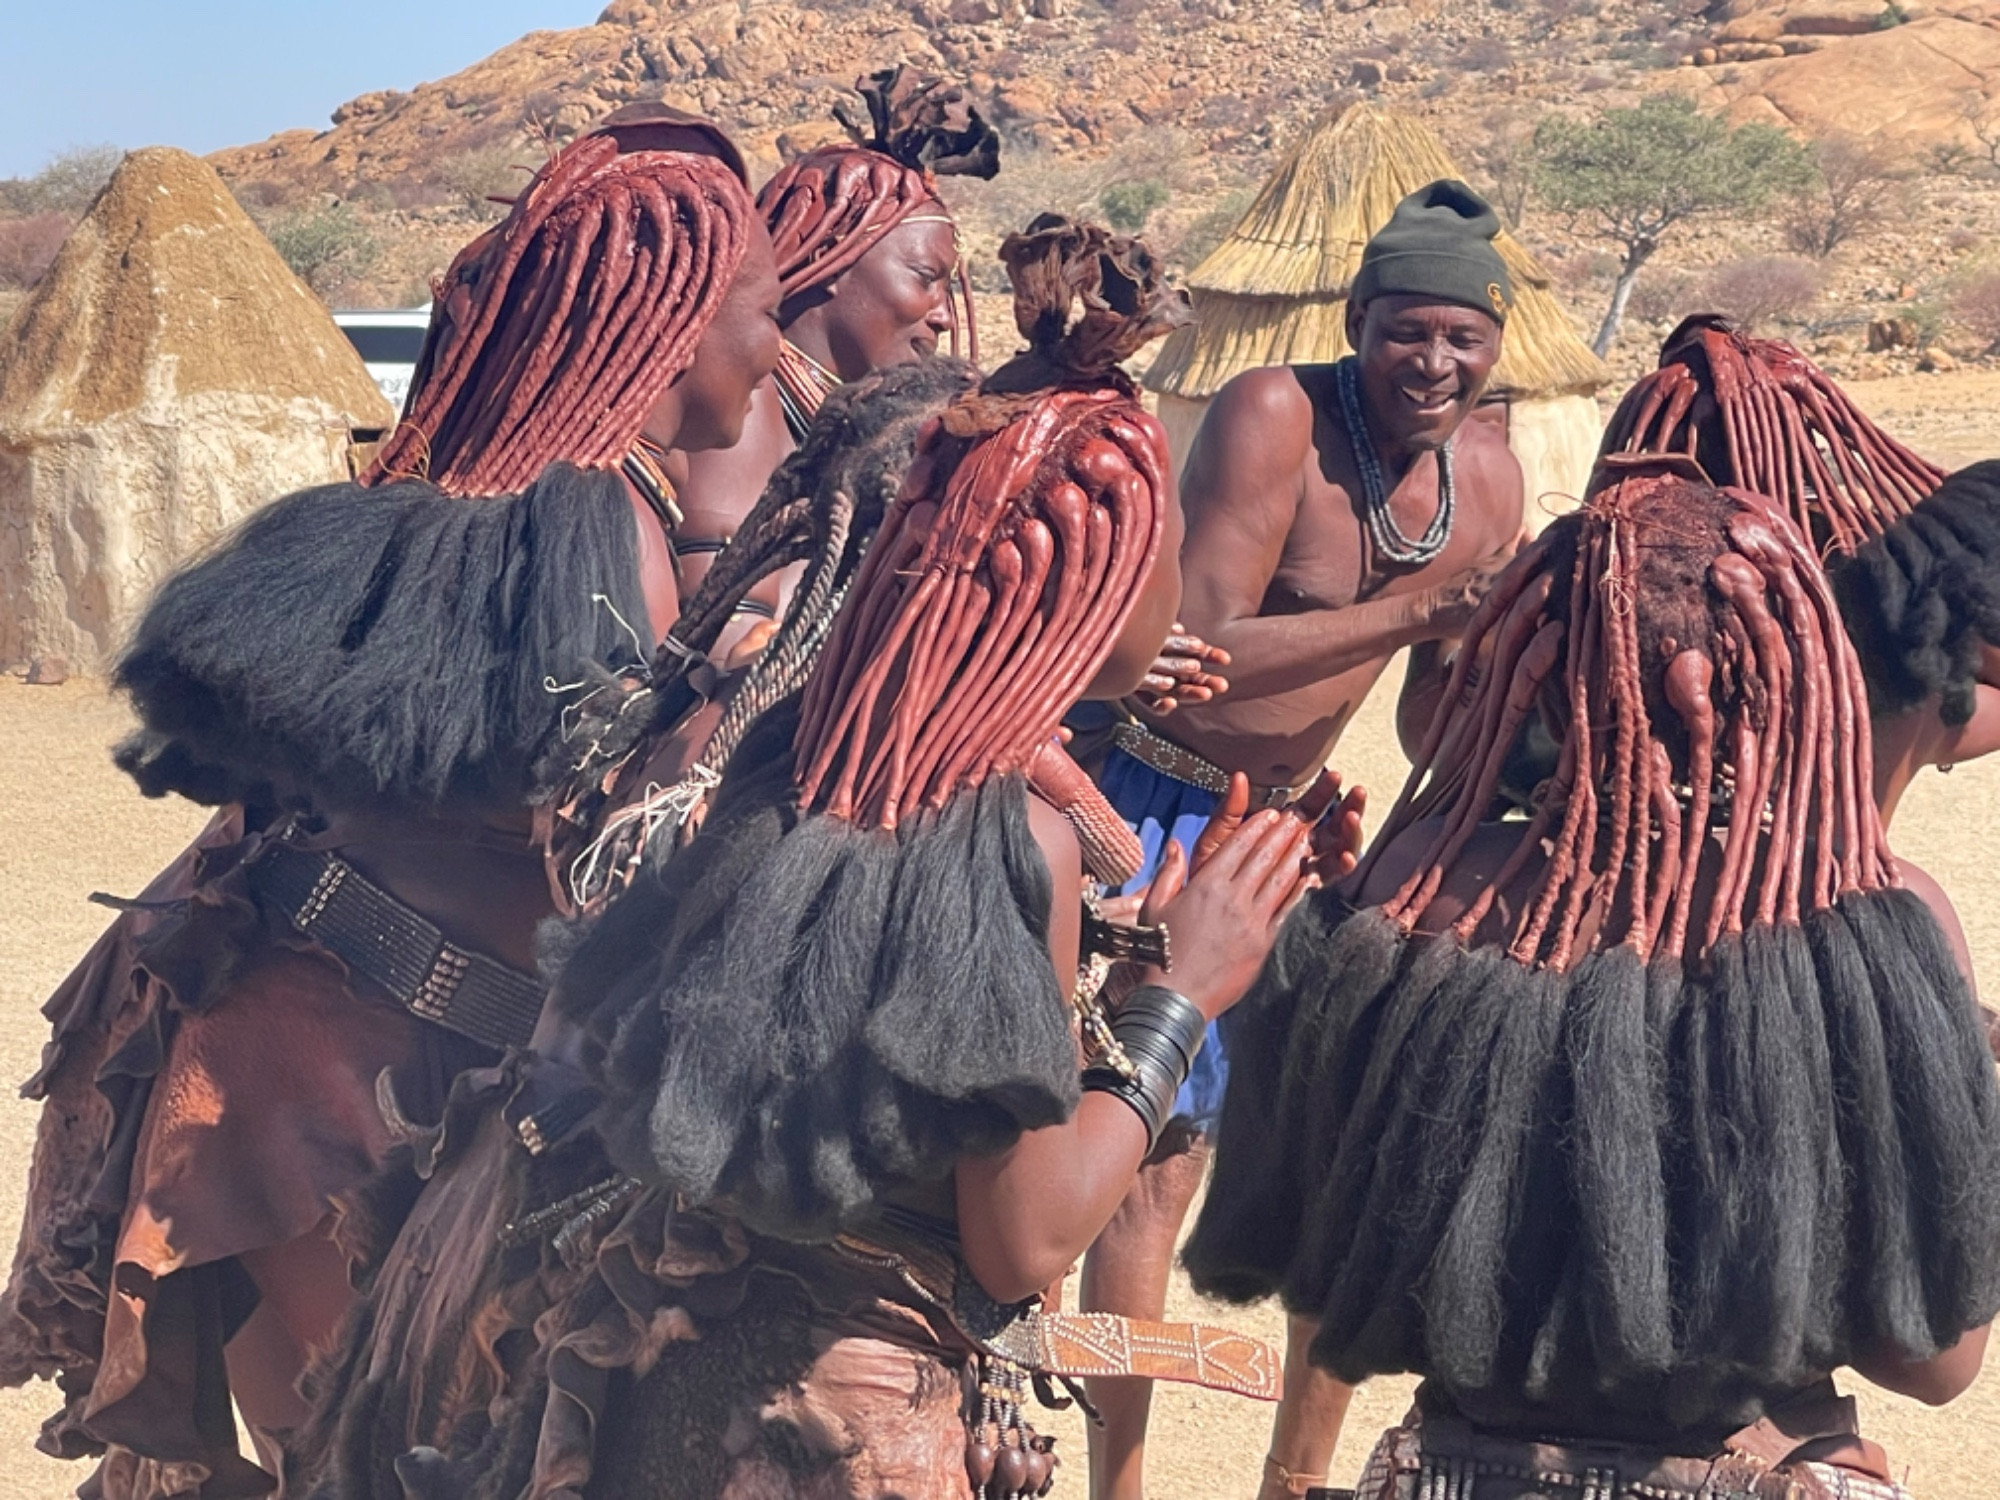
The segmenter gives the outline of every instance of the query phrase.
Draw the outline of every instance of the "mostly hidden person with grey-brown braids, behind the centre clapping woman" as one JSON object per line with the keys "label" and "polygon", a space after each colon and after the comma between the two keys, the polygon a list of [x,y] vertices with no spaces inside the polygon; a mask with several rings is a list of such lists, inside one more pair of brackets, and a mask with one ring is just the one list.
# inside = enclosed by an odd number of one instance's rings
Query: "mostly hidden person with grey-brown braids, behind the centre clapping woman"
{"label": "mostly hidden person with grey-brown braids, behind the centre clapping woman", "polygon": [[[550,762],[558,776],[574,770],[584,790],[546,808],[568,910],[600,912],[638,868],[674,856],[686,824],[664,810],[690,814],[758,706],[796,692],[824,640],[826,598],[852,584],[922,424],[976,384],[968,364],[940,356],[828,394],[804,446],[688,598],[654,670],[628,672],[618,692],[576,706]],[[690,664],[720,650],[738,598],[800,562],[804,594],[724,702],[704,704]],[[682,780],[648,778],[684,760],[694,772]],[[564,1206],[578,1188],[620,1182],[590,1130],[596,1092],[576,1068],[582,1042],[570,1018],[544,1006],[528,1052],[460,1074],[444,1124],[410,1134],[424,1180],[416,1202],[406,1176],[380,1178],[390,1202],[372,1218],[394,1240],[370,1256],[346,1336],[308,1376],[312,1416],[292,1444],[308,1492],[454,1494],[462,1482],[450,1456],[476,1454],[512,1408],[540,1400],[536,1320],[590,1270],[560,1248],[546,1254],[550,1232],[590,1200]]]}

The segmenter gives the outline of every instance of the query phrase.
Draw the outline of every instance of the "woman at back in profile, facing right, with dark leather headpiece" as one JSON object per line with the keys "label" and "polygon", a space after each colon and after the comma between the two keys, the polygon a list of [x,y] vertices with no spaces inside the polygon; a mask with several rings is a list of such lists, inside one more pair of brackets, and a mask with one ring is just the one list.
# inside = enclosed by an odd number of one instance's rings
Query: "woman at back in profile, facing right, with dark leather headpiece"
{"label": "woman at back in profile, facing right, with dark leather headpiece", "polygon": [[[750,404],[742,442],[686,458],[684,520],[674,526],[684,594],[700,586],[840,382],[926,358],[944,334],[952,354],[978,360],[958,226],[938,178],[994,176],[1000,136],[962,90],[908,68],[864,78],[856,92],[866,120],[836,108],[852,140],[800,154],[758,192],[784,286],[784,346]],[[746,620],[724,634],[718,654],[730,654],[746,622],[774,620],[780,604],[780,580],[760,582],[738,604]]]}

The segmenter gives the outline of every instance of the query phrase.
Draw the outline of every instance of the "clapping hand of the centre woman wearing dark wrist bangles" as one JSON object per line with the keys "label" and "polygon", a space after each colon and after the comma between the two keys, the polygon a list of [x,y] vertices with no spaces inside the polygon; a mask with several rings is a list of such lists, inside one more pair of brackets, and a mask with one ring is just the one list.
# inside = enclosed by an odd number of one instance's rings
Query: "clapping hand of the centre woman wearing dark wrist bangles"
{"label": "clapping hand of the centre woman wearing dark wrist bangles", "polygon": [[1168,844],[1140,908],[1142,922],[1164,922],[1174,948],[1170,972],[1148,982],[1180,990],[1214,1020],[1256,980],[1278,928],[1320,884],[1310,868],[1312,828],[1294,812],[1256,812],[1240,772],[1188,856]]}

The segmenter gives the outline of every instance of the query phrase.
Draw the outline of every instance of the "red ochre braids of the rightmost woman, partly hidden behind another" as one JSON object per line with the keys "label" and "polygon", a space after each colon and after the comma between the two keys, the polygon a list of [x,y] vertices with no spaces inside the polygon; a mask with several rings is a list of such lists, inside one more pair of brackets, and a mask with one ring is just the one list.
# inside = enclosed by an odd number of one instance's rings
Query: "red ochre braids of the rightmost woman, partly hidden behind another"
{"label": "red ochre braids of the rightmost woman, partly hidden behind another", "polygon": [[1716,484],[1782,502],[1822,550],[1882,536],[1944,470],[1870,422],[1790,344],[1686,318],[1612,414],[1606,454],[1686,454]]}

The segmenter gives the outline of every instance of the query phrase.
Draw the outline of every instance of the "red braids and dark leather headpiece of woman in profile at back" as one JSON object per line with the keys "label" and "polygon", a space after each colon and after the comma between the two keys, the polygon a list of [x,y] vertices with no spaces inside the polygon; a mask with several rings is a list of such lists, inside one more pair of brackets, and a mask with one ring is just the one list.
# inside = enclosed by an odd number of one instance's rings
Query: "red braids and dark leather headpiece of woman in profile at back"
{"label": "red braids and dark leather headpiece of woman in profile at back", "polygon": [[[804,152],[756,196],[778,250],[786,302],[852,270],[920,210],[950,218],[938,200],[940,176],[992,178],[1000,170],[1000,136],[962,88],[900,64],[854,88],[868,106],[866,124],[846,106],[834,108],[852,142]],[[976,364],[980,344],[964,258],[950,312],[952,352],[964,320],[964,352]]]}

